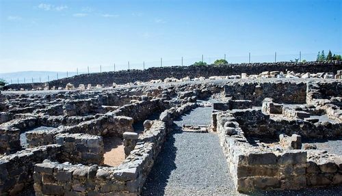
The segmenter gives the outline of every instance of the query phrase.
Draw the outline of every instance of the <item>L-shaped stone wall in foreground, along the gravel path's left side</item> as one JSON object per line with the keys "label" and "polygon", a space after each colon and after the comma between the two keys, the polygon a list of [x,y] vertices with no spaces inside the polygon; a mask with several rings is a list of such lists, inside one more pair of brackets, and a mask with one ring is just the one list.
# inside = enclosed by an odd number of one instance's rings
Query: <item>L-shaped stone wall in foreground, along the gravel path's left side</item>
{"label": "L-shaped stone wall in foreground, along the gravel path's left side", "polygon": [[37,195],[139,195],[166,136],[166,125],[154,121],[150,130],[118,167],[70,163],[36,164]]}

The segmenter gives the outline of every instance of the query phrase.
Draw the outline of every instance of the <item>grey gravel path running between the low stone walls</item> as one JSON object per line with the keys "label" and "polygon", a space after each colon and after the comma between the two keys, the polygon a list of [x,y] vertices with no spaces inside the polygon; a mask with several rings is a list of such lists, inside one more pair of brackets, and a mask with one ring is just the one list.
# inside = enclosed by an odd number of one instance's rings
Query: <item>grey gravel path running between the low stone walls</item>
{"label": "grey gravel path running between the low stone walls", "polygon": [[[198,107],[175,124],[210,124],[212,107]],[[176,126],[175,125],[175,126]],[[213,133],[170,132],[142,195],[236,195]]]}

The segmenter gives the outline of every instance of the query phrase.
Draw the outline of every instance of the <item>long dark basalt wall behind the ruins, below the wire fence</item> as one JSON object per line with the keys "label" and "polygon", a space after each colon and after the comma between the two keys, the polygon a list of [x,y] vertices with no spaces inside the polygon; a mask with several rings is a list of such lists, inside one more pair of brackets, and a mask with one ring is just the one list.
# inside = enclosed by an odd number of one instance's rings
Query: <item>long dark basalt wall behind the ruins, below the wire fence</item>
{"label": "long dark basalt wall behind the ruins, below the wire fence", "polygon": [[[307,62],[305,64],[294,62],[278,62],[278,63],[257,63],[257,64],[228,64],[222,66],[174,66],[164,68],[149,68],[147,70],[124,70],[119,72],[102,72],[94,74],[80,74],[65,79],[58,79],[49,82],[49,87],[65,87],[67,83],[75,86],[79,84],[103,84],[112,85],[112,83],[124,84],[134,81],[150,81],[155,79],[166,79],[175,77],[181,79],[189,76],[195,78],[199,76],[226,76],[234,74],[259,74],[264,71],[282,71],[287,70],[293,72],[334,72],[342,70],[342,61],[330,62]],[[45,83],[27,83],[27,84],[11,84],[6,85],[5,89],[32,89],[36,87],[44,87]]]}

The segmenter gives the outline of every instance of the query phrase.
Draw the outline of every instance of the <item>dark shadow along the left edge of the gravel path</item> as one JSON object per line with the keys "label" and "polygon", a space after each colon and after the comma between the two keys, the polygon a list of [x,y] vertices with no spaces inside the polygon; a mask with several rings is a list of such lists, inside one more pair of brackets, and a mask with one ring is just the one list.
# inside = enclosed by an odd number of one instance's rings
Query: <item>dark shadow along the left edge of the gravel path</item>
{"label": "dark shadow along the left edge of the gravel path", "polygon": [[148,174],[141,195],[164,195],[171,172],[176,169],[174,160],[177,148],[174,146],[174,135],[181,133],[181,129],[176,124],[172,125],[172,130],[166,136],[161,152]]}

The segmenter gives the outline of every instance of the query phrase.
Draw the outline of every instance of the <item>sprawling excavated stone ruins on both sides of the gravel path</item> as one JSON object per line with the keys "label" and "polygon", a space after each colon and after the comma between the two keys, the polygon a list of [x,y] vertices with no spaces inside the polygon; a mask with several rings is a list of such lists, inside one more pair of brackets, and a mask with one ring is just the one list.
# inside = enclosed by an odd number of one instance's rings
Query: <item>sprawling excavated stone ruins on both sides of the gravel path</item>
{"label": "sprawling excavated stone ruins on both sides of the gravel path", "polygon": [[306,141],[342,141],[342,81],[277,75],[2,92],[0,195],[140,195],[174,119],[208,98],[211,125],[183,128],[218,136],[236,191],[341,185],[342,154]]}

